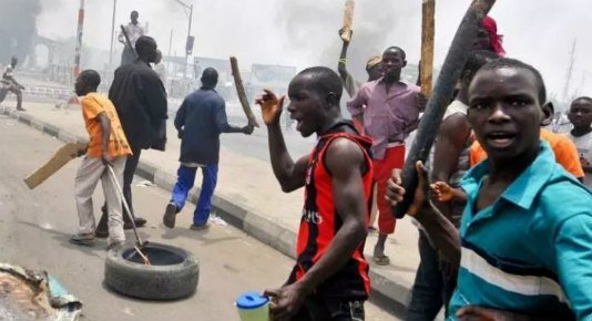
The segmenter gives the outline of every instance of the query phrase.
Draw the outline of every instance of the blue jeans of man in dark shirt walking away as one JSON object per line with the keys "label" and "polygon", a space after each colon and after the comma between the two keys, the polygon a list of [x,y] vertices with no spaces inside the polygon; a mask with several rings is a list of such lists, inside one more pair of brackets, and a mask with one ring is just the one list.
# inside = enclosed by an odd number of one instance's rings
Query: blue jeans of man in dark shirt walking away
{"label": "blue jeans of man in dark shirt walking away", "polygon": [[[216,188],[216,182],[218,178],[218,165],[211,164],[202,168],[202,174],[204,176],[202,180],[202,191],[200,193],[200,199],[197,200],[197,206],[193,213],[193,224],[194,225],[204,225],[207,222],[210,217],[210,211],[212,210],[212,195],[214,195],[214,189]],[[185,206],[187,200],[187,194],[193,188],[195,183],[195,173],[197,172],[196,167],[187,167],[181,165],[176,172],[177,178],[175,187],[173,188],[173,195],[171,197],[171,203],[173,203],[177,210],[181,211]]]}

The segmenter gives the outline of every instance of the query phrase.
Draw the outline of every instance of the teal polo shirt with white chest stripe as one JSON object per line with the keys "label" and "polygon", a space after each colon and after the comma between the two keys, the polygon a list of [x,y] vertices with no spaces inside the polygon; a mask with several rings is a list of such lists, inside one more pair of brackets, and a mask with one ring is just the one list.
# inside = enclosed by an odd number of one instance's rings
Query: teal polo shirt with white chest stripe
{"label": "teal polo shirt with white chest stripe", "polygon": [[462,179],[468,203],[449,320],[465,306],[592,320],[592,193],[540,144],[535,161],[478,213],[488,162]]}

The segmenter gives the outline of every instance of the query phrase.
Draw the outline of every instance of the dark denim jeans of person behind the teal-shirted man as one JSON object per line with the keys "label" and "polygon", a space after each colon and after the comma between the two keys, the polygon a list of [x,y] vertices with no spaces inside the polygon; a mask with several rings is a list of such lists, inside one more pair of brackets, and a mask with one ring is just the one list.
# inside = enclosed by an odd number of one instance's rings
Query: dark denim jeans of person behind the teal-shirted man
{"label": "dark denim jeans of person behind the teal-shirted man", "polygon": [[456,288],[457,276],[440,268],[438,251],[431,247],[423,231],[419,232],[420,263],[407,310],[407,321],[432,321],[448,302]]}

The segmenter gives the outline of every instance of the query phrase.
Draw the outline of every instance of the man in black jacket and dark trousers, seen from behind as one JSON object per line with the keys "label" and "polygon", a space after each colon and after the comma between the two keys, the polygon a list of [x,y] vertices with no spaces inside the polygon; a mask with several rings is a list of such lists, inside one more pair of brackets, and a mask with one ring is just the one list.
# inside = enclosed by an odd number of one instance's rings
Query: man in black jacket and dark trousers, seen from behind
{"label": "man in black jacket and dark trousers, seen from behind", "polygon": [[[136,226],[143,226],[146,220],[134,215],[132,206],[132,179],[140,161],[142,149],[164,151],[166,143],[166,91],[161,79],[152,70],[150,63],[156,61],[156,42],[142,35],[135,42],[137,59],[115,70],[115,76],[109,99],[115,105],[118,114],[132,147],[133,155],[125,162],[123,173],[123,194],[130,205],[131,215]],[[96,228],[98,236],[106,235],[105,214]],[[124,215],[125,227],[131,227],[129,216]]]}

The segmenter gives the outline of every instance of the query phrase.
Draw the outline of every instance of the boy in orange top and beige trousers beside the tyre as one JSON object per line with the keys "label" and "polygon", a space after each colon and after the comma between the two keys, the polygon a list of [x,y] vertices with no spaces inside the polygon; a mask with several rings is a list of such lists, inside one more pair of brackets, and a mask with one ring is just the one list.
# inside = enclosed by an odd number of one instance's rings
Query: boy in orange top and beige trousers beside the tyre
{"label": "boy in orange top and beige trousers beside the tyre", "polygon": [[109,238],[108,249],[123,246],[123,216],[121,194],[108,168],[111,166],[118,182],[123,179],[125,159],[131,149],[111,101],[96,93],[101,76],[93,70],[80,73],[75,83],[76,95],[81,99],[82,116],[89,132],[89,149],[75,178],[75,200],[80,219],[79,232],[70,238],[78,245],[92,245],[96,224],[92,213],[92,194],[99,180],[103,185],[108,206]]}

